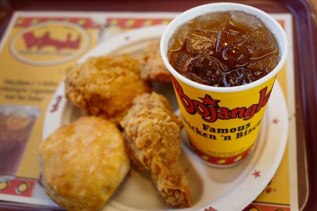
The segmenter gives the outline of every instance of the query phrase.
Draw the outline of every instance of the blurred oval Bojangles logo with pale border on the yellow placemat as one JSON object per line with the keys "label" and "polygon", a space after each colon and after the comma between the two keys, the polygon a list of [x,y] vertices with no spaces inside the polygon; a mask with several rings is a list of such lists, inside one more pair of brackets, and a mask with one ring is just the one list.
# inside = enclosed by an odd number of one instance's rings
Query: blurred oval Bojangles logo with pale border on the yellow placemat
{"label": "blurred oval Bojangles logo with pale border on the yellow placemat", "polygon": [[90,45],[86,29],[70,22],[45,22],[19,31],[10,42],[10,52],[30,65],[57,65],[84,54]]}

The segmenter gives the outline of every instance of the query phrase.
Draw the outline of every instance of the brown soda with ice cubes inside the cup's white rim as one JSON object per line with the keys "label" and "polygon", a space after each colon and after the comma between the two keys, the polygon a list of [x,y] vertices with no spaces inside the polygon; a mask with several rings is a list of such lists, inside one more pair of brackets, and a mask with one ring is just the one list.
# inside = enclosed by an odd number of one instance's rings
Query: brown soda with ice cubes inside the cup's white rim
{"label": "brown soda with ice cubes inside the cup's white rim", "polygon": [[279,47],[262,21],[244,11],[216,11],[179,26],[168,43],[171,66],[209,86],[239,86],[270,73]]}

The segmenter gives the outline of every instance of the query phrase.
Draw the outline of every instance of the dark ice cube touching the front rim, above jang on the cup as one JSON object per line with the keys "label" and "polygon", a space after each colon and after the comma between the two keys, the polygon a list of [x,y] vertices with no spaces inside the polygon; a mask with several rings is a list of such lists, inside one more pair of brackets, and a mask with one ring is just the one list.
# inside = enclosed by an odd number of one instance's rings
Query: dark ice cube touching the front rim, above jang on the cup
{"label": "dark ice cube touching the front rim, above jang on the cup", "polygon": [[245,68],[240,67],[236,70],[232,70],[224,74],[221,80],[221,86],[241,86],[252,82],[251,80],[249,80],[246,74],[247,71],[248,70],[246,70]]}

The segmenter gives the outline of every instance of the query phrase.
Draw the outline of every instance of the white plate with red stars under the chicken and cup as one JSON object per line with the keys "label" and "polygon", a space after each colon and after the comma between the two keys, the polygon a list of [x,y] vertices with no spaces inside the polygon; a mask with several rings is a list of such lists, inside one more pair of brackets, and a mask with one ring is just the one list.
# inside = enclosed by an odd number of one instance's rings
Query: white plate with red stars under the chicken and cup
{"label": "white plate with red stars under the chicken and cup", "polygon": [[[129,53],[139,57],[149,42],[161,36],[164,28],[163,25],[152,26],[121,34],[94,48],[84,55],[80,62],[89,56],[105,54]],[[172,85],[158,83],[155,84],[155,88],[170,100],[176,111],[178,105]],[[65,98],[62,82],[46,113],[43,140],[61,125],[70,123],[81,115],[80,109]],[[213,168],[201,163],[186,144],[182,145],[181,168],[183,171],[186,169],[185,176],[189,180],[193,199],[193,206],[182,210],[204,211],[211,207],[218,211],[238,211],[248,206],[275,174],[285,150],[287,134],[287,107],[281,86],[276,81],[262,120],[255,150],[243,163],[230,168]],[[181,139],[187,141],[184,130]],[[112,210],[173,209],[166,207],[159,200],[150,173],[132,168],[130,175],[103,208],[103,211]]]}

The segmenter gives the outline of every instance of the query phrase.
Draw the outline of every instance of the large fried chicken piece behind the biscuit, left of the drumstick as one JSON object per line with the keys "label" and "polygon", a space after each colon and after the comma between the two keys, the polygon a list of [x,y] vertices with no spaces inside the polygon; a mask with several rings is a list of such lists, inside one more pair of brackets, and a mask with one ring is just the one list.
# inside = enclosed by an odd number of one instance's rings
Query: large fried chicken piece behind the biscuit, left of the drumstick
{"label": "large fried chicken piece behind the biscuit, left of the drumstick", "polygon": [[128,54],[88,58],[66,71],[65,95],[74,105],[119,125],[138,94],[149,92],[138,60]]}

